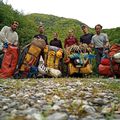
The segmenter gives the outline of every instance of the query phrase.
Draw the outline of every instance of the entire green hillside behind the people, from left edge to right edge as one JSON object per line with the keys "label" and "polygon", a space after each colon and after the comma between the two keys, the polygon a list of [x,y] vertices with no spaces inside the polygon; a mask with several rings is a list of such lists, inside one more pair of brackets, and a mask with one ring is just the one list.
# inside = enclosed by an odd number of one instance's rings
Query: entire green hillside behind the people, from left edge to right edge
{"label": "entire green hillside behind the people, from left edge to right edge", "polygon": [[[20,23],[18,34],[20,45],[24,46],[29,43],[32,37],[38,33],[39,23],[42,22],[45,26],[45,34],[48,36],[48,41],[52,39],[52,33],[58,32],[59,38],[63,42],[67,36],[69,29],[75,31],[76,37],[79,39],[82,31],[80,26],[82,22],[75,19],[68,19],[63,17],[57,17],[53,15],[45,14],[30,14],[24,15],[23,13],[13,10],[12,6],[0,2],[0,29],[4,25],[10,25],[13,20],[17,20]],[[87,23],[86,23],[87,24]],[[90,28],[90,32],[94,33],[94,29]],[[113,29],[105,29],[112,43],[120,43],[120,27]]]}

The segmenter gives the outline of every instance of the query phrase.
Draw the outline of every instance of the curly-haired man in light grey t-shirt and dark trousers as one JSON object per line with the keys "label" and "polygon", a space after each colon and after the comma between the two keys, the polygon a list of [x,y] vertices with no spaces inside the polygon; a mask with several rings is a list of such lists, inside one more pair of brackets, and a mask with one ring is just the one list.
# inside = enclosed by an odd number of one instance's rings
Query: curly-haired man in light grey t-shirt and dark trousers
{"label": "curly-haired man in light grey t-shirt and dark trousers", "polygon": [[101,62],[101,58],[103,56],[104,49],[109,48],[108,36],[106,33],[102,33],[101,31],[102,31],[102,26],[100,24],[97,24],[95,26],[96,34],[92,37],[92,40],[91,40],[92,47],[95,48],[97,69]]}

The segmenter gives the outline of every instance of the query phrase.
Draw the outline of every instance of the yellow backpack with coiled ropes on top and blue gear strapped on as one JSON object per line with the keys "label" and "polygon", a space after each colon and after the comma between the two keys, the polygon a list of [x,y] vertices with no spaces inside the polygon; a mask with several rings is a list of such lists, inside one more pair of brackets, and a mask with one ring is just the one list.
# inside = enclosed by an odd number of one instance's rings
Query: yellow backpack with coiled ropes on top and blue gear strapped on
{"label": "yellow backpack with coiled ropes on top and blue gear strapped on", "polygon": [[72,45],[66,49],[67,58],[70,58],[67,61],[68,75],[74,73],[91,74],[93,72],[92,59],[95,56],[88,52],[88,46],[86,44],[82,44],[82,46]]}

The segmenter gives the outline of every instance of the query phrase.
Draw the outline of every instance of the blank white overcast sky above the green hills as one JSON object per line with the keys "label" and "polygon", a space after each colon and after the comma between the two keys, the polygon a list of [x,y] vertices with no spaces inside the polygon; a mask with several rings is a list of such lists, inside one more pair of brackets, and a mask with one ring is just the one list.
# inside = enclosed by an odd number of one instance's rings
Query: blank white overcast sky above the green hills
{"label": "blank white overcast sky above the green hills", "polygon": [[120,0],[3,0],[24,14],[42,13],[77,19],[90,27],[120,27]]}

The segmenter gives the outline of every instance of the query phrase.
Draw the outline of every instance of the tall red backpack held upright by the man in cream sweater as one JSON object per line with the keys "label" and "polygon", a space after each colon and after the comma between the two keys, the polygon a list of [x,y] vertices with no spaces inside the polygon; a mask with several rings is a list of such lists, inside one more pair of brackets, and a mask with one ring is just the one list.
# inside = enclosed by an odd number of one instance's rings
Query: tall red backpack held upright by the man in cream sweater
{"label": "tall red backpack held upright by the man in cream sweater", "polygon": [[18,62],[18,47],[9,45],[4,49],[4,57],[0,68],[0,78],[12,77]]}

